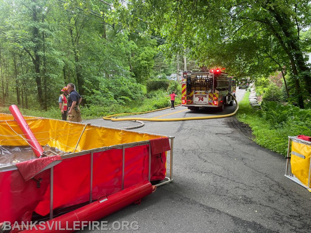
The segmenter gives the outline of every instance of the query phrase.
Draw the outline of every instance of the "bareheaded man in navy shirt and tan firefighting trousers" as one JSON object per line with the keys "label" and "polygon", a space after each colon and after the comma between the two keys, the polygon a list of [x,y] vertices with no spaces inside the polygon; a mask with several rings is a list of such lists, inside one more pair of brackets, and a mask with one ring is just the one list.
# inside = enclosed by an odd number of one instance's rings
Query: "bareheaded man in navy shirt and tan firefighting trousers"
{"label": "bareheaded man in navy shirt and tan firefighting trousers", "polygon": [[81,110],[79,104],[82,101],[81,95],[75,90],[73,83],[67,85],[69,97],[68,97],[68,121],[81,122]]}

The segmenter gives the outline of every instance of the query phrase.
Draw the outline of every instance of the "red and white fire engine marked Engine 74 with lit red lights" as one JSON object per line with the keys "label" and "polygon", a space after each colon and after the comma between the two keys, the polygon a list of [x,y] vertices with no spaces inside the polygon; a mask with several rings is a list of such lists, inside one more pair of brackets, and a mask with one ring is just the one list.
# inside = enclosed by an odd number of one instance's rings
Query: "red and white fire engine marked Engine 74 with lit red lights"
{"label": "red and white fire engine marked Engine 74 with lit red lights", "polygon": [[183,71],[181,105],[190,110],[210,107],[223,111],[225,105],[233,106],[229,93],[235,97],[235,90],[233,77],[220,69],[202,73]]}

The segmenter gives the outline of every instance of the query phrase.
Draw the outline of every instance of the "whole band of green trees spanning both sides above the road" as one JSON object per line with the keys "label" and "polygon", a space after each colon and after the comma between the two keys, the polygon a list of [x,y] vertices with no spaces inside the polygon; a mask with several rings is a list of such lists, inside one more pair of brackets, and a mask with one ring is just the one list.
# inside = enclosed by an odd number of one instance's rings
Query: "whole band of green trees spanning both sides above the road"
{"label": "whole band of green trees spanning both sides above the road", "polygon": [[182,70],[186,55],[188,69],[225,67],[237,79],[280,71],[288,98],[303,108],[311,98],[310,7],[305,0],[0,0],[1,104],[46,110],[69,82],[83,104],[130,103],[149,78]]}

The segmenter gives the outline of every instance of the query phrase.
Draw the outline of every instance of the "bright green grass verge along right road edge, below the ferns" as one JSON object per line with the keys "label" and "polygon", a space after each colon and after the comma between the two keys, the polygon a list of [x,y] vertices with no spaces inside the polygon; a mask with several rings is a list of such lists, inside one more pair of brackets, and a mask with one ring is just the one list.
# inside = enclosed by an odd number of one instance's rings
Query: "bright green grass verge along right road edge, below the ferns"
{"label": "bright green grass verge along right road edge, below the ferns", "polygon": [[[300,134],[311,135],[311,130],[307,124],[310,122],[306,121],[293,121],[293,116],[290,116],[288,112],[283,112],[283,114],[288,118],[280,123],[271,123],[264,119],[263,116],[266,114],[271,114],[270,117],[277,117],[278,112],[275,109],[267,110],[256,110],[252,108],[248,101],[249,92],[247,92],[239,102],[239,111],[237,112],[237,118],[239,121],[248,124],[253,131],[253,140],[269,150],[286,156],[288,137],[287,136],[297,136]],[[278,104],[278,106],[283,106]],[[310,110],[304,110],[310,111]],[[273,114],[276,114],[275,116]],[[287,116],[289,115],[289,116]]]}

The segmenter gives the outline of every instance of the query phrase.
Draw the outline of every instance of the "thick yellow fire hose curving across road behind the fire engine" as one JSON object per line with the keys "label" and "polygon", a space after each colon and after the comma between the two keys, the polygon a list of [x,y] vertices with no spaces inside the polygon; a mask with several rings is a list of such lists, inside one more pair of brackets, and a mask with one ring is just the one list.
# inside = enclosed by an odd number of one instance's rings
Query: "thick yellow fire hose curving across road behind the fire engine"
{"label": "thick yellow fire hose curving across road behind the fire engine", "polygon": [[[143,114],[148,112],[156,112],[164,109],[168,109],[170,107],[165,107],[157,110],[147,111],[147,112],[129,112],[129,113],[119,113],[110,116],[103,117],[106,121],[192,121],[192,120],[206,120],[206,119],[216,119],[216,118],[225,118],[233,116],[239,110],[239,104],[236,98],[229,93],[229,95],[234,99],[236,103],[236,109],[234,112],[226,115],[217,115],[217,116],[208,116],[208,117],[184,117],[184,118],[169,118],[169,119],[154,119],[154,118],[141,118],[141,117],[128,117],[128,118],[113,118],[115,116],[123,115],[123,114]],[[176,105],[179,106],[179,105]]]}

